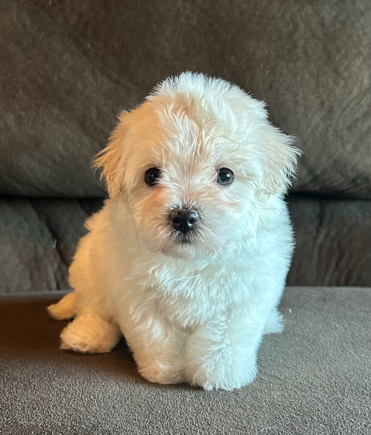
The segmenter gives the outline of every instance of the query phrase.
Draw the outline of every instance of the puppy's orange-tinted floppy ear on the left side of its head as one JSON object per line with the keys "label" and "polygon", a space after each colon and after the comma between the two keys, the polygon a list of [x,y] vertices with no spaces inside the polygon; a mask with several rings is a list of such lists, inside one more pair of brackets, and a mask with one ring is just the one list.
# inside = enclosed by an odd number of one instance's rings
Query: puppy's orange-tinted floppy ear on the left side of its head
{"label": "puppy's orange-tinted floppy ear on the left side of its head", "polygon": [[101,179],[105,177],[108,194],[111,198],[117,198],[123,189],[125,167],[121,165],[125,136],[128,132],[126,118],[129,112],[124,111],[118,117],[117,127],[108,140],[108,145],[94,158],[92,166],[102,167]]}

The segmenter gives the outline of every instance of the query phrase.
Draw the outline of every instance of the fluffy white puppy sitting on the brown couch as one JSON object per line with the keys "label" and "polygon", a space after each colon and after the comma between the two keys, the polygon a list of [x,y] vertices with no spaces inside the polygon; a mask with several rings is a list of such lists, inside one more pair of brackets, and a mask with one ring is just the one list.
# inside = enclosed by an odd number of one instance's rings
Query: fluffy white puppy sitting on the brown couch
{"label": "fluffy white puppy sitting on the brown couch", "polygon": [[75,291],[49,307],[75,317],[61,348],[108,352],[124,335],[149,381],[253,381],[263,334],[282,330],[292,142],[264,103],[201,74],[167,79],[122,113],[95,161],[110,197],[86,223]]}

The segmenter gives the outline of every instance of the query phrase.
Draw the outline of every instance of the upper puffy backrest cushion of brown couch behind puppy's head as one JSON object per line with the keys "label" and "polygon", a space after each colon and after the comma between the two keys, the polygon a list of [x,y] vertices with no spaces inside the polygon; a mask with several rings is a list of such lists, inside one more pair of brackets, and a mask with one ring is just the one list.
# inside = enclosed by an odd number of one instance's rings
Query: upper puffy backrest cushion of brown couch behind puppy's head
{"label": "upper puffy backrest cushion of brown couch behind puppy's head", "polygon": [[371,198],[369,0],[3,0],[0,193],[101,196],[115,116],[182,70],[265,100],[294,191]]}

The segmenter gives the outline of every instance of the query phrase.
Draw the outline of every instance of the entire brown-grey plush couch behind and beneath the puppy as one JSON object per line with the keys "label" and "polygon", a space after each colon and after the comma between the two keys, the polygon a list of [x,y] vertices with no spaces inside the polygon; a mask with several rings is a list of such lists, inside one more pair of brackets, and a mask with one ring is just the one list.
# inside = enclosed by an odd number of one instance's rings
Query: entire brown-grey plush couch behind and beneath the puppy
{"label": "entire brown-grey plush couch behind and beneath the puppy", "polygon": [[[369,0],[3,0],[0,59],[0,433],[371,433]],[[303,151],[285,331],[239,391],[151,385],[124,341],[58,351],[44,309],[102,206],[91,160],[117,114],[183,70],[265,100]]]}

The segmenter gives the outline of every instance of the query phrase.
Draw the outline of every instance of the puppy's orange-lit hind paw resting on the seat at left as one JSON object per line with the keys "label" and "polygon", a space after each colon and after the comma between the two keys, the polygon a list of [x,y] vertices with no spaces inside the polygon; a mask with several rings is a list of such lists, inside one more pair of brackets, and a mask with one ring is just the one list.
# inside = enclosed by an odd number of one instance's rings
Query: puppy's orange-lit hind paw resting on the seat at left
{"label": "puppy's orange-lit hind paw resting on the seat at left", "polygon": [[120,340],[121,331],[95,313],[77,316],[61,332],[61,349],[78,352],[109,352]]}

